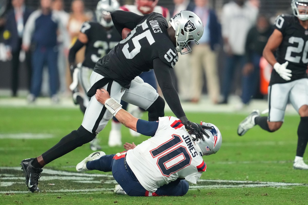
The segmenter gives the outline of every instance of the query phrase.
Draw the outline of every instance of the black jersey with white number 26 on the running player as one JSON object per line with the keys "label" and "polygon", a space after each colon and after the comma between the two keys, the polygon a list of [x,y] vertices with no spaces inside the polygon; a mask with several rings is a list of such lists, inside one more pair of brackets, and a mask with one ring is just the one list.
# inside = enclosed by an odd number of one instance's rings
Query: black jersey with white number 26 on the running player
{"label": "black jersey with white number 26 on the running player", "polygon": [[[294,15],[280,15],[276,18],[275,28],[282,35],[282,43],[276,51],[276,60],[283,64],[289,61],[287,69],[292,71],[290,81],[306,78],[308,64],[308,30],[306,30]],[[284,80],[275,69],[272,71],[270,85],[290,82]]]}

